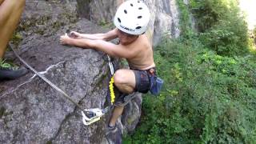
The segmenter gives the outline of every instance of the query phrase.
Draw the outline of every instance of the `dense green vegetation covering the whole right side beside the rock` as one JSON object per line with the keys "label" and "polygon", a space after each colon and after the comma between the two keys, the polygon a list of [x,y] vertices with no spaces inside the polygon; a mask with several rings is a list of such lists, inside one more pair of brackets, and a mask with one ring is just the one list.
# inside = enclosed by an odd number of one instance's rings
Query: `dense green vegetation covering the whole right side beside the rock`
{"label": "dense green vegetation covering the whole right side beside the rock", "polygon": [[178,0],[182,36],[154,51],[162,93],[143,97],[141,122],[124,143],[256,143],[256,56],[246,23],[235,1],[190,2]]}

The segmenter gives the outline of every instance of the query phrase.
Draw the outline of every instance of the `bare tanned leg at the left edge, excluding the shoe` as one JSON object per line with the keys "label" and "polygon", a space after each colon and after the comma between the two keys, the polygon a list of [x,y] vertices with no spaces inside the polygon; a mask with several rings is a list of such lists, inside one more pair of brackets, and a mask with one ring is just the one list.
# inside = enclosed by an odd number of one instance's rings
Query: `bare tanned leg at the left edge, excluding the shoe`
{"label": "bare tanned leg at the left edge, excluding the shoe", "polygon": [[6,51],[25,6],[25,0],[0,0],[0,59]]}

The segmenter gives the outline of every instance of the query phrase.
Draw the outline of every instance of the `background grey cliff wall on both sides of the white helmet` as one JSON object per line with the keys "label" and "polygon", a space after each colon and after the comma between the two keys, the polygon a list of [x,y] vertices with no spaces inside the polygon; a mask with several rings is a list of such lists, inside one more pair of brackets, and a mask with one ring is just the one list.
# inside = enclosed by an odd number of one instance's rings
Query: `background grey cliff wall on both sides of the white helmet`
{"label": "background grey cliff wall on both sides of the white helmet", "polygon": [[[117,7],[124,0],[78,0],[79,14],[82,17],[98,23],[112,22]],[[150,24],[147,35],[154,46],[167,35],[169,38],[177,38],[180,34],[178,28],[178,7],[175,0],[147,0],[144,1],[150,8]],[[86,10],[86,13],[85,13]]]}

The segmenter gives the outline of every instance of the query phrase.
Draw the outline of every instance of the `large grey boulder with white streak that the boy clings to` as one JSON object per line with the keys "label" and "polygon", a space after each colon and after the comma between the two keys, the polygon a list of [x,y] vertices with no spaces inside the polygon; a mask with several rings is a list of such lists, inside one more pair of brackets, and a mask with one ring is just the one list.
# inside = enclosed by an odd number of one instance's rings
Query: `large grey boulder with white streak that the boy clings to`
{"label": "large grey boulder with white streak that the boy clings to", "polygon": [[[101,27],[77,17],[76,1],[27,1],[18,34],[18,53],[36,70],[69,94],[83,108],[106,104],[109,68],[106,55],[95,50],[62,46],[68,30],[99,33]],[[15,59],[10,51],[6,58]],[[118,120],[118,131],[106,136],[110,114],[90,126],[80,110],[32,72],[0,82],[0,143],[121,143],[134,130],[142,96],[134,98]]]}

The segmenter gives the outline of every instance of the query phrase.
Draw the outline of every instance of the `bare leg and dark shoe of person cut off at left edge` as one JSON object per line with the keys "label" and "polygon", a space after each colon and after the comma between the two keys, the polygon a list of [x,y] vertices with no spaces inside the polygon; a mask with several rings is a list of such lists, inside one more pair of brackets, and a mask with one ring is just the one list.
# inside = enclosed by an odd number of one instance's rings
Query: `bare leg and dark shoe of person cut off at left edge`
{"label": "bare leg and dark shoe of person cut off at left edge", "polygon": [[25,0],[0,0],[0,80],[18,78],[27,72],[26,68],[12,67],[2,59],[24,6]]}

